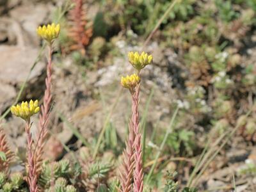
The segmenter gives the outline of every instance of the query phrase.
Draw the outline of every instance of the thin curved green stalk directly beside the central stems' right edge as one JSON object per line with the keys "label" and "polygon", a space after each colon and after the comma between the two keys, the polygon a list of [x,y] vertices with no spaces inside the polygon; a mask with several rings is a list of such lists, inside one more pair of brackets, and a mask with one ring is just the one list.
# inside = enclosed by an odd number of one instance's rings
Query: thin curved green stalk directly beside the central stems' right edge
{"label": "thin curved green stalk directly beside the central stems' right edge", "polygon": [[147,100],[145,110],[143,111],[143,116],[141,118],[141,127],[142,127],[142,164],[145,162],[145,145],[146,145],[146,120],[148,115],[148,107],[154,95],[155,86],[152,87],[150,95]]}

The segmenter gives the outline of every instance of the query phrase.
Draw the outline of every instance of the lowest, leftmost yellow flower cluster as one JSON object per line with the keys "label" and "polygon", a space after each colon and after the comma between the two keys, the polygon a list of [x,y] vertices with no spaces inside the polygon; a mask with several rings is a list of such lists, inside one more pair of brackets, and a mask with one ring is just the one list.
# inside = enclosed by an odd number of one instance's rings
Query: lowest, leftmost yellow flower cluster
{"label": "lowest, leftmost yellow flower cluster", "polygon": [[17,104],[17,106],[11,107],[11,112],[15,116],[20,116],[24,120],[28,120],[32,115],[38,113],[40,110],[38,106],[38,100],[30,100],[29,104],[28,102],[22,102],[20,105]]}

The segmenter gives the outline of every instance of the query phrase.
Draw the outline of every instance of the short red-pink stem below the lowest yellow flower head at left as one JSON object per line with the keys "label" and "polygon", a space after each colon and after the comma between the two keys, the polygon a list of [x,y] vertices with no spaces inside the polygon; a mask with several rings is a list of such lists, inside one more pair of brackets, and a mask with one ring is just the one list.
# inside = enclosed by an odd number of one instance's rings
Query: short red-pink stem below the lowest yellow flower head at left
{"label": "short red-pink stem below the lowest yellow flower head at left", "polygon": [[32,151],[33,140],[30,132],[31,124],[30,120],[26,121],[25,131],[27,133],[27,152],[28,152],[28,183],[29,183],[29,191],[36,192],[37,191],[37,176],[36,176],[36,166],[34,161],[34,155]]}

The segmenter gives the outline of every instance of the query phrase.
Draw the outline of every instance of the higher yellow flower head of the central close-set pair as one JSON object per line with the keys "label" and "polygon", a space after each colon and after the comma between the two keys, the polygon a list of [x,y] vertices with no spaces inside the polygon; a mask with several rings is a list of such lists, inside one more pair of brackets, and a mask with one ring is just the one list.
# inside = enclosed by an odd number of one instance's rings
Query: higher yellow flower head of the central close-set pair
{"label": "higher yellow flower head of the central close-set pair", "polygon": [[153,60],[152,55],[151,54],[148,55],[144,51],[141,54],[139,54],[138,52],[129,52],[128,58],[129,58],[129,62],[137,70],[141,70],[146,65],[149,65]]}

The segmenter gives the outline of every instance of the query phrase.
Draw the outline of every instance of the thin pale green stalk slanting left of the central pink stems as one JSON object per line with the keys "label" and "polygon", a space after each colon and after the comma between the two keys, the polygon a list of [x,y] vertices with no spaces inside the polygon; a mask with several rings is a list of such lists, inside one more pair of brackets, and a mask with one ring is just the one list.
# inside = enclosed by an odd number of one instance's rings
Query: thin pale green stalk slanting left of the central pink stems
{"label": "thin pale green stalk slanting left of the central pink stems", "polygon": [[96,147],[95,147],[94,152],[93,152],[93,159],[95,159],[95,157],[96,157],[97,154],[98,154],[99,147],[100,147],[100,143],[101,143],[101,141],[102,141],[102,139],[103,139],[103,136],[104,136],[104,133],[105,133],[106,128],[107,128],[107,126],[108,126],[110,117],[111,117],[111,115],[112,115],[114,109],[116,108],[116,105],[118,104],[118,100],[120,99],[120,95],[121,95],[121,93],[122,93],[122,90],[123,90],[122,88],[119,89],[118,94],[117,94],[116,99],[115,99],[115,102],[113,103],[112,108],[111,108],[111,110],[110,110],[109,113],[108,113],[108,116],[106,116],[106,119],[105,119],[105,121],[104,121],[104,125],[103,125],[103,127],[102,127],[102,130],[101,130],[101,132],[100,132],[99,138],[98,138],[98,140],[97,140]]}

